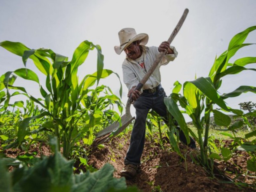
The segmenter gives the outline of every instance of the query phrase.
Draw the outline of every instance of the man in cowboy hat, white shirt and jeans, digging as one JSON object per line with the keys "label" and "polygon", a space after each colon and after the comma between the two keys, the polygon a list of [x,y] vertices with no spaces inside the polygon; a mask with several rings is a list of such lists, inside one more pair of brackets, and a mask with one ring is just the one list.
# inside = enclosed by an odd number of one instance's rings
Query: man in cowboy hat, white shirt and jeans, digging
{"label": "man in cowboy hat, white shirt and jeans, digging", "polygon": [[[128,97],[132,95],[133,106],[136,109],[136,118],[132,129],[130,146],[124,160],[124,168],[121,170],[121,176],[126,179],[133,178],[139,168],[140,158],[144,148],[146,118],[150,109],[153,109],[160,116],[166,118],[167,112],[164,105],[166,94],[161,86],[160,66],[173,61],[178,52],[169,42],[164,41],[159,47],[146,47],[148,35],[145,33],[136,34],[134,28],[124,28],[118,32],[120,46],[115,46],[117,54],[125,52],[126,58],[123,62],[123,78],[129,92]],[[156,67],[155,71],[143,85],[141,92],[134,90],[140,80],[146,75],[156,60],[159,52],[166,51],[163,59]],[[180,130],[180,140],[187,144],[184,133]],[[190,137],[188,145],[196,148],[195,141]]]}

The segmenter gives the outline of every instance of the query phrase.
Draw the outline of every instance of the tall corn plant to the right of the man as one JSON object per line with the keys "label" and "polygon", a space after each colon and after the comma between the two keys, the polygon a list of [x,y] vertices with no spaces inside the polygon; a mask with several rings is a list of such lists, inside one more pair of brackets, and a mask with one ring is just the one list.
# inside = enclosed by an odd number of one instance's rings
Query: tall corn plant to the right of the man
{"label": "tall corn plant to the right of the man", "polygon": [[[247,35],[256,29],[256,26],[250,27],[235,35],[229,45],[228,50],[223,52],[218,58],[215,59],[213,66],[210,70],[208,77],[199,77],[193,81],[187,81],[183,84],[183,95],[179,94],[181,90],[181,84],[175,82],[175,88],[173,89],[170,97],[165,98],[164,102],[169,113],[178,122],[180,128],[186,135],[187,141],[189,142],[188,134],[196,139],[200,146],[201,164],[207,167],[211,167],[208,160],[207,154],[209,151],[208,137],[209,137],[209,126],[210,126],[210,115],[213,113],[215,123],[220,126],[228,127],[227,130],[235,130],[242,126],[243,122],[239,121],[234,124],[231,123],[231,119],[224,112],[232,112],[237,116],[256,116],[255,111],[247,114],[243,114],[243,111],[238,109],[232,109],[225,103],[225,99],[230,97],[239,96],[245,92],[256,93],[256,87],[253,86],[240,86],[236,90],[230,93],[220,95],[218,89],[221,86],[222,77],[232,74],[238,74],[244,70],[256,71],[255,68],[245,68],[245,65],[256,63],[256,57],[244,57],[237,59],[234,63],[229,63],[229,59],[233,57],[236,52],[242,47],[249,46],[252,44],[244,44],[244,40]],[[179,101],[180,107],[184,108],[184,113],[187,113],[194,126],[197,128],[198,137],[188,128],[184,116],[182,115],[177,102]],[[220,110],[214,109],[213,106],[217,105]],[[171,127],[172,128],[172,127]],[[171,133],[174,133],[173,131]],[[204,133],[204,137],[203,137]],[[255,135],[255,132],[252,133]],[[174,138],[174,134],[170,135]],[[254,145],[254,150],[255,145]],[[176,148],[176,150],[179,150]],[[225,151],[226,155],[226,150]],[[253,159],[256,162],[254,156]]]}

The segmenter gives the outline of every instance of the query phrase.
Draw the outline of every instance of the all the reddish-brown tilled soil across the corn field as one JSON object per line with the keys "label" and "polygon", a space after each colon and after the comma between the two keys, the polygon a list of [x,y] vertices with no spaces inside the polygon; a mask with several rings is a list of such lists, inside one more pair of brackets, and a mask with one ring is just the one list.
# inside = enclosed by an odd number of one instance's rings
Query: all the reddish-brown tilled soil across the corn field
{"label": "all the reddish-brown tilled soil across the corn field", "polygon": [[[130,134],[113,138],[104,144],[104,148],[93,148],[89,158],[89,165],[100,169],[104,164],[110,163],[114,166],[114,177],[120,178],[119,172],[124,166],[124,157],[129,147]],[[126,180],[128,186],[137,186],[143,192],[163,191],[163,192],[190,192],[190,191],[256,191],[255,174],[247,172],[246,161],[249,156],[245,152],[237,151],[227,162],[214,162],[214,177],[194,159],[198,151],[187,148],[180,144],[181,152],[186,156],[183,160],[171,149],[169,142],[164,138],[164,145],[161,147],[155,142],[146,140],[144,151],[141,157],[140,171],[132,180]],[[226,140],[226,145],[231,143]],[[51,149],[45,144],[40,147],[32,145],[29,153],[36,152],[36,156],[51,155]],[[4,153],[6,156],[15,158],[17,155],[25,154],[20,149],[8,149]],[[192,158],[193,157],[193,158]],[[75,172],[85,171],[85,167],[79,167]],[[11,171],[11,170],[10,170]],[[231,180],[235,180],[231,182]],[[244,185],[237,183],[244,183]]]}

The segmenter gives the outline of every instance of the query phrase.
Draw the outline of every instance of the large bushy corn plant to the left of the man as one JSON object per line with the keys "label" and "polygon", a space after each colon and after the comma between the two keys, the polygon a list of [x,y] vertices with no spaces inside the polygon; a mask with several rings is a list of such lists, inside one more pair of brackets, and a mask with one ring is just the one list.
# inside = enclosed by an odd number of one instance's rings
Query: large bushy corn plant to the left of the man
{"label": "large bushy corn plant to the left of the man", "polygon": [[[89,124],[92,127],[95,122],[95,116],[97,116],[97,109],[89,111],[85,108],[86,99],[89,97],[88,88],[95,84],[97,87],[100,78],[106,78],[114,73],[111,70],[103,69],[104,56],[101,53],[100,46],[94,45],[89,41],[82,42],[76,48],[71,61],[68,61],[67,57],[53,52],[51,49],[29,49],[19,42],[4,41],[0,43],[0,46],[21,56],[25,66],[25,68],[19,68],[15,71],[8,71],[0,78],[1,90],[6,89],[5,95],[1,92],[4,108],[7,109],[12,96],[23,94],[45,109],[39,115],[27,117],[19,124],[18,145],[22,143],[26,136],[26,127],[30,120],[48,116],[50,117],[49,121],[45,122],[42,127],[53,130],[54,135],[58,138],[58,143],[63,147],[63,155],[68,157],[76,140],[83,136],[78,132],[77,122],[84,114],[89,113],[91,117]],[[92,75],[84,76],[79,82],[77,76],[78,67],[84,63],[89,51],[94,48],[98,52],[97,71]],[[45,87],[40,84],[37,74],[26,68],[28,59],[31,59],[39,71],[44,74],[46,79]],[[14,86],[13,83],[16,76],[38,83],[42,98],[37,99],[33,97],[24,87]],[[118,75],[117,77],[119,79]],[[10,93],[11,89],[15,90],[12,94]],[[121,93],[122,85],[120,86],[120,95]],[[80,129],[80,133],[85,129],[87,128]]]}

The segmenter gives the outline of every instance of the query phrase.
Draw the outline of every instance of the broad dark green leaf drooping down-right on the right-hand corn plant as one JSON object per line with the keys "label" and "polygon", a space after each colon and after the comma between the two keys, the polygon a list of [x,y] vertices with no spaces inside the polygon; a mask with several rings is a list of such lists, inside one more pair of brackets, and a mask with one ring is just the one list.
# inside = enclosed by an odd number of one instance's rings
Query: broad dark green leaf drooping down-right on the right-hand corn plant
{"label": "broad dark green leaf drooping down-right on the right-hand corn plant", "polygon": [[225,102],[221,99],[209,78],[200,77],[194,81],[190,81],[190,83],[196,85],[196,87],[215,104],[228,111]]}

